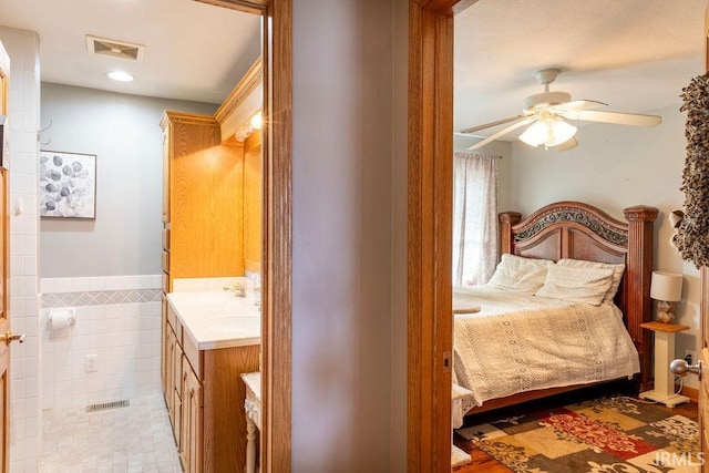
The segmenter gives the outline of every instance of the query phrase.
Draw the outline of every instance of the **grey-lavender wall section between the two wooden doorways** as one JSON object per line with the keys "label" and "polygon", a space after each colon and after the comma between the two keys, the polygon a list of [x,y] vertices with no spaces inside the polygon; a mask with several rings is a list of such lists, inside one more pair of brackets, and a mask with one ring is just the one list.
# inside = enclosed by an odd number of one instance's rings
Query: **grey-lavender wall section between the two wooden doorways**
{"label": "grey-lavender wall section between the two wooden doorways", "polygon": [[391,470],[393,6],[294,4],[295,472]]}

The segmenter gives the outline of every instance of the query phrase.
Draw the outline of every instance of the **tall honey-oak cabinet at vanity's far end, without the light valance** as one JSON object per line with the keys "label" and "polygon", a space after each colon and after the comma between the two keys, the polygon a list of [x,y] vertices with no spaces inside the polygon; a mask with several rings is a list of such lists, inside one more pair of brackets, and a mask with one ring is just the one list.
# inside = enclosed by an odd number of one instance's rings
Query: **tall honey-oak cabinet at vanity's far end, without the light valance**
{"label": "tall honey-oak cabinet at vanity's far end, without the light valance", "polygon": [[165,112],[161,126],[164,290],[244,275],[244,146],[222,144],[210,116]]}

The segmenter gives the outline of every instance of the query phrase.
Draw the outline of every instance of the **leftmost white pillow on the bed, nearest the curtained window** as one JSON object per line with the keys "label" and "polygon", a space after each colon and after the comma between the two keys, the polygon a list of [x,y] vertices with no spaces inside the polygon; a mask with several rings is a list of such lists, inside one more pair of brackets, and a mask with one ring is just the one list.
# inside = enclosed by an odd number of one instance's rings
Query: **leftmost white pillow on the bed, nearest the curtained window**
{"label": "leftmost white pillow on the bed, nearest the curtained window", "polygon": [[487,286],[513,292],[534,294],[544,285],[547,259],[523,258],[503,254]]}

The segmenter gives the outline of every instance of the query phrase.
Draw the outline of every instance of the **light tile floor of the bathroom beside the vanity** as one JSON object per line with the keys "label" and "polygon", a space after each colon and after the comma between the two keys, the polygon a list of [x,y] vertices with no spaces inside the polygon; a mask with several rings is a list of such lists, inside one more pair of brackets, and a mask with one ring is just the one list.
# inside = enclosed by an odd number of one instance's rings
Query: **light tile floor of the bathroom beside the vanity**
{"label": "light tile floor of the bathroom beside the vanity", "polygon": [[41,473],[181,473],[161,394],[125,408],[42,412]]}

